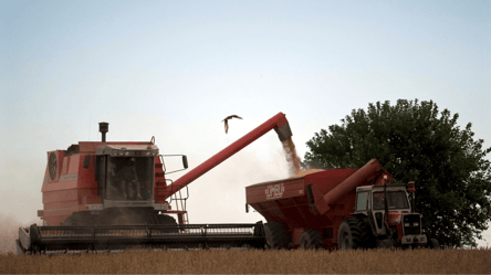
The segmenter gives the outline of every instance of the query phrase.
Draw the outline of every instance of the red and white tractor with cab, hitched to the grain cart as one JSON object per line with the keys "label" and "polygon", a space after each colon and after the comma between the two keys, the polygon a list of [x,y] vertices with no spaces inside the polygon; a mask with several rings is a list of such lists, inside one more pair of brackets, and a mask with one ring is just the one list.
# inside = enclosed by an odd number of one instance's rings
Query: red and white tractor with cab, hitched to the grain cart
{"label": "red and white tractor with cab, hitched to the grain cart", "polygon": [[414,194],[412,181],[407,184],[357,187],[353,218],[345,219],[339,225],[338,247],[438,248],[436,239],[428,240],[422,234],[421,216],[415,213],[414,203],[410,203],[415,201]]}

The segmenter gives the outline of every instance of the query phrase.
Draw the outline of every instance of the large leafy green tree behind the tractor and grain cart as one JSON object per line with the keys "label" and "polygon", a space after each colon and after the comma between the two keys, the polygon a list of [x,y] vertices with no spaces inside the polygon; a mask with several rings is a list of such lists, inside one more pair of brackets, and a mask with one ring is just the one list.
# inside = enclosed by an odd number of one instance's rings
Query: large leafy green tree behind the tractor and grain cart
{"label": "large leafy green tree behind the tractor and grain cart", "polygon": [[397,101],[353,109],[341,125],[306,142],[304,165],[359,168],[376,158],[393,182],[416,181],[416,211],[425,232],[447,246],[476,245],[491,220],[491,168],[469,123],[438,112],[432,101]]}

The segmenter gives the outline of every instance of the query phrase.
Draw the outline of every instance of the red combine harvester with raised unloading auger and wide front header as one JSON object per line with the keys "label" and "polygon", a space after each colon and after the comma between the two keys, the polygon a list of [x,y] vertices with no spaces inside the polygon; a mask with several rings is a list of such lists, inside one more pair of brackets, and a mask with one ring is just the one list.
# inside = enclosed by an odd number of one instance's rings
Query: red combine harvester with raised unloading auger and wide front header
{"label": "red combine harvester with raised unloading auger and wide front header", "polygon": [[[42,186],[43,225],[19,229],[18,253],[126,247],[264,247],[261,223],[188,224],[180,190],[255,139],[274,129],[281,141],[292,133],[279,113],[173,182],[154,138],[148,142],[81,141],[48,152]],[[176,156],[176,155],[171,155]],[[182,156],[182,155],[177,155]],[[187,158],[182,156],[184,168]],[[176,202],[176,209],[171,203]],[[176,214],[176,220],[168,215]]]}

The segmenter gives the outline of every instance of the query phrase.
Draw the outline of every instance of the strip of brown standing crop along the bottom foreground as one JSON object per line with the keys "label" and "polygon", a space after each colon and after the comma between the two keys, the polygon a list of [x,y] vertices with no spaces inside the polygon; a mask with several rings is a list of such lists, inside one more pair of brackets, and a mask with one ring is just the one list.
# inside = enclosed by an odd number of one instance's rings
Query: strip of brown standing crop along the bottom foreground
{"label": "strip of brown standing crop along the bottom foreground", "polygon": [[149,251],[0,255],[0,274],[491,274],[491,250]]}

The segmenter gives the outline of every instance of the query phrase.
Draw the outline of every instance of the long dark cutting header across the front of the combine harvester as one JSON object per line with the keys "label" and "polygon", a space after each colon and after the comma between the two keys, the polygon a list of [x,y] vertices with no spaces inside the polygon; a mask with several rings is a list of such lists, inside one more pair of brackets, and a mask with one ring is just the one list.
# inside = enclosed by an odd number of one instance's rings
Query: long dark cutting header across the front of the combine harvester
{"label": "long dark cutting header across the front of the combine harvester", "polygon": [[[27,230],[27,229],[25,229]],[[30,242],[18,242],[21,251],[112,251],[146,248],[263,248],[261,223],[252,224],[179,224],[111,226],[33,226]]]}

